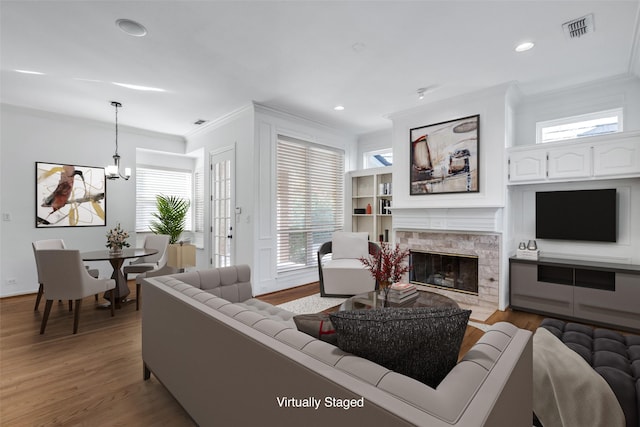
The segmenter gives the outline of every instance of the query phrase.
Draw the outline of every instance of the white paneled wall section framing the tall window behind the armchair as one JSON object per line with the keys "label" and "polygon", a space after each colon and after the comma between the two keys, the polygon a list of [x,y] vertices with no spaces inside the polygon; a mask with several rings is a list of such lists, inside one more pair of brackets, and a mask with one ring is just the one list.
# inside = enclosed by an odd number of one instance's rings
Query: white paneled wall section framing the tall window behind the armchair
{"label": "white paneled wall section framing the tall window behind the armchair", "polygon": [[256,219],[254,223],[254,293],[264,294],[318,280],[318,268],[278,275],[276,233],[276,142],[279,134],[345,150],[345,169],[356,165],[355,135],[256,105],[253,176]]}

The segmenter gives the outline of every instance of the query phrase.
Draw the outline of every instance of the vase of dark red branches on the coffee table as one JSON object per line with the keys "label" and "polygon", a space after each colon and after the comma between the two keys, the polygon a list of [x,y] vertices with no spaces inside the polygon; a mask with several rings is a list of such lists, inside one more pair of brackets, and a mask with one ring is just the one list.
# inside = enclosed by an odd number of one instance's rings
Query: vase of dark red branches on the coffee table
{"label": "vase of dark red branches on the coffee table", "polygon": [[368,258],[360,258],[360,262],[369,269],[371,275],[380,284],[380,290],[384,292],[384,306],[387,306],[387,297],[391,285],[402,280],[402,276],[409,271],[409,264],[405,259],[409,256],[409,249],[400,249],[389,243],[380,243],[380,251],[369,255]]}

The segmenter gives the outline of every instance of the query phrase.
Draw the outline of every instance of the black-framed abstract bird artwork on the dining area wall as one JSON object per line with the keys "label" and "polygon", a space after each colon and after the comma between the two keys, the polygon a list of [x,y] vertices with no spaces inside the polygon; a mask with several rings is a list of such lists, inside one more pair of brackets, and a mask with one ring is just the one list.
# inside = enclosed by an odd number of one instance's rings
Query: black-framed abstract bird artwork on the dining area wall
{"label": "black-framed abstract bird artwork on the dining area wall", "polygon": [[104,168],[36,162],[36,228],[106,225]]}

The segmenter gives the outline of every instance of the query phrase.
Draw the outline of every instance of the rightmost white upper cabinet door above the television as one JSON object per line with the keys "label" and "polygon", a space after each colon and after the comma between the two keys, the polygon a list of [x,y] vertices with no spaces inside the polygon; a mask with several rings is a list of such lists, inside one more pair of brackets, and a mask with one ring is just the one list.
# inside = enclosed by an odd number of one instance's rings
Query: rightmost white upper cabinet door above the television
{"label": "rightmost white upper cabinet door above the television", "polygon": [[593,147],[594,176],[640,174],[640,138]]}

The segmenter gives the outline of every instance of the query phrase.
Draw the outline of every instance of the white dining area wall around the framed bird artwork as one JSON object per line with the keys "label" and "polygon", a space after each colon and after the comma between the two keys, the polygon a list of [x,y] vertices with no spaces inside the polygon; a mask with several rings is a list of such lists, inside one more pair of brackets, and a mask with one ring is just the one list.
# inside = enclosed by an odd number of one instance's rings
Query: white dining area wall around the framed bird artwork
{"label": "white dining area wall around the framed bird artwork", "polygon": [[[62,238],[82,251],[105,248],[107,230],[120,222],[135,229],[136,147],[184,153],[181,137],[119,126],[118,151],[123,167],[132,168],[129,181],[107,182],[106,227],[35,228],[35,163],[71,163],[103,167],[113,162],[115,129],[112,123],[81,120],[9,105],[0,115],[0,297],[35,292],[37,274],[31,242]],[[102,276],[111,275],[107,262],[94,263]],[[9,279],[15,285],[8,285]]]}

